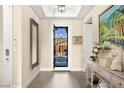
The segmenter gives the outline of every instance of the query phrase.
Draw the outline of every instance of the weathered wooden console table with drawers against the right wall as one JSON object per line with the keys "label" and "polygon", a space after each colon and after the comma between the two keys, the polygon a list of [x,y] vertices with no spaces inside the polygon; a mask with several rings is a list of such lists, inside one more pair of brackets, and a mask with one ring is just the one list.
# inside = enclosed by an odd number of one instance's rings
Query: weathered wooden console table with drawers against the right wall
{"label": "weathered wooden console table with drawers against the right wall", "polygon": [[[90,73],[89,73],[90,70]],[[124,73],[119,71],[112,71],[108,68],[100,66],[98,63],[95,63],[91,60],[88,60],[86,76],[90,74],[91,81],[87,82],[91,87],[93,86],[93,75],[96,75],[99,79],[104,80],[108,83],[109,87],[112,88],[124,88]]]}

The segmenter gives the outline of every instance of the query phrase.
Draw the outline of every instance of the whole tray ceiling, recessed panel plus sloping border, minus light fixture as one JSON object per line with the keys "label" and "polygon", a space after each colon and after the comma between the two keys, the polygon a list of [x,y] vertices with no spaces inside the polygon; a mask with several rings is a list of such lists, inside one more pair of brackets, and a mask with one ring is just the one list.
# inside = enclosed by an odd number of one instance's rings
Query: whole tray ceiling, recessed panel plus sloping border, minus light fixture
{"label": "whole tray ceiling, recessed panel plus sloping border, minus light fixture", "polygon": [[31,5],[40,19],[83,19],[93,5],[66,5],[65,13],[58,13],[57,5]]}

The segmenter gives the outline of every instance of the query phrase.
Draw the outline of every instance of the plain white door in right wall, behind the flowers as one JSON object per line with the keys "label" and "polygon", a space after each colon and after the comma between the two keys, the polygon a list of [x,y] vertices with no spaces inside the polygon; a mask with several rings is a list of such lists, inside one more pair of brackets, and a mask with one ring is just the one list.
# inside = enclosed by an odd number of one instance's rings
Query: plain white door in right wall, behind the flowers
{"label": "plain white door in right wall, behind the flowers", "polygon": [[83,42],[84,42],[84,46],[83,46],[83,50],[84,50],[84,68],[86,68],[86,62],[87,60],[90,58],[91,54],[92,54],[92,48],[93,48],[93,36],[92,36],[92,24],[84,24],[83,27]]}

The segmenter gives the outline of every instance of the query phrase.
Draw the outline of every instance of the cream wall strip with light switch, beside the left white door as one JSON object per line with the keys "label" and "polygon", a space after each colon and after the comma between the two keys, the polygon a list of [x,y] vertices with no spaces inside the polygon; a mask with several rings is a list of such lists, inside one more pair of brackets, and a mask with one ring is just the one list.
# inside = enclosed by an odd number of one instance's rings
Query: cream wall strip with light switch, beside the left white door
{"label": "cream wall strip with light switch, beside the left white door", "polygon": [[22,87],[22,7],[13,6],[13,87]]}

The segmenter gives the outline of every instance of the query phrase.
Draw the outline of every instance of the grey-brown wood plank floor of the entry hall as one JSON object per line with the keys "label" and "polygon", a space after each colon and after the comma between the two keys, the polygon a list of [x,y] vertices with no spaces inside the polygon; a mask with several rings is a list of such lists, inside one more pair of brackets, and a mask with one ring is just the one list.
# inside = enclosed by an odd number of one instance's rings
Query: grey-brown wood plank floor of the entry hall
{"label": "grey-brown wood plank floor of the entry hall", "polygon": [[85,73],[43,71],[29,84],[28,88],[86,88]]}

